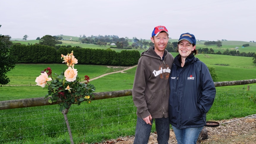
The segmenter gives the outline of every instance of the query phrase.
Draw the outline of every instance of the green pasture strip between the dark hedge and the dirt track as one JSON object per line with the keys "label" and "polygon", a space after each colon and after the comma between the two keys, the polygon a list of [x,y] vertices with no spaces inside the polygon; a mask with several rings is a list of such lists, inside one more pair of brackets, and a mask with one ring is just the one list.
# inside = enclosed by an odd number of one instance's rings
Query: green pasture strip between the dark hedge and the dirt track
{"label": "green pasture strip between the dark hedge and the dirt track", "polygon": [[[52,69],[52,74],[56,73],[58,75],[67,69],[65,64],[16,64],[14,69],[7,72],[7,77],[10,78],[10,83],[7,85],[35,85],[35,78],[47,67]],[[102,65],[79,64],[75,65],[75,69],[77,69],[79,77],[83,78],[85,75],[88,75],[90,79],[105,73],[122,70]]]}

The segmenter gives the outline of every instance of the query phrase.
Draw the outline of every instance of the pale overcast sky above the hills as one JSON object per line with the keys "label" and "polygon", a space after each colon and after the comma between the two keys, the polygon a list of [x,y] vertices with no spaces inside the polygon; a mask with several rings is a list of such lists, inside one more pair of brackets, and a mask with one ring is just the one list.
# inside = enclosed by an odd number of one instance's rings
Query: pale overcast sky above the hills
{"label": "pale overcast sky above the hills", "polygon": [[255,0],[2,0],[0,34],[28,40],[45,35],[116,35],[150,39],[163,25],[169,37],[256,41]]}

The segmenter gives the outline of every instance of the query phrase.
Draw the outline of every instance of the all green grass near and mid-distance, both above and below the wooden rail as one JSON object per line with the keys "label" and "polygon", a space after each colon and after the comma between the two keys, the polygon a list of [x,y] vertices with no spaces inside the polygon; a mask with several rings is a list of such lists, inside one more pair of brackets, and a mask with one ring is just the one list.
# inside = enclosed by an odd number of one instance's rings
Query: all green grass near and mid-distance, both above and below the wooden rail
{"label": "all green grass near and mid-distance, both above and below the wooden rail", "polygon": [[[218,81],[255,79],[256,68],[252,58],[210,54],[196,57],[207,66],[216,68]],[[47,67],[51,67],[53,73],[57,74],[67,68],[65,64],[16,64],[15,69],[7,72],[10,85],[34,85],[40,71]],[[120,70],[79,64],[75,68],[78,69],[79,77],[89,75],[90,78]],[[90,83],[94,84],[96,92],[132,89],[135,70],[136,67],[125,71],[127,73],[107,75]],[[207,113],[207,120],[217,121],[255,114],[255,103],[249,97],[255,96],[256,90],[252,88],[246,91],[246,87],[247,85],[217,87],[216,99]],[[0,90],[0,101],[44,97],[47,93],[47,89],[40,86],[2,86]],[[0,143],[69,144],[66,124],[58,110],[58,105],[0,110]],[[132,96],[95,100],[90,104],[84,102],[80,106],[72,105],[68,118],[75,143],[96,143],[134,135],[136,107]],[[154,131],[153,124],[152,132]]]}

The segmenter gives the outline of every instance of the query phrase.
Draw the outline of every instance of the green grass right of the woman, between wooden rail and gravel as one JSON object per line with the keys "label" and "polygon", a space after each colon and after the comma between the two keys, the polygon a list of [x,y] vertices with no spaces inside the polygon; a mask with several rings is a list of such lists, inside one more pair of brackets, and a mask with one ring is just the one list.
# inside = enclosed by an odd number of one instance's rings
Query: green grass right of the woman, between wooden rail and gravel
{"label": "green grass right of the woman, between wooden rail and gravel", "polygon": [[207,113],[208,120],[240,118],[256,113],[255,103],[249,100],[250,96],[256,95],[256,89],[247,91],[246,87],[244,89],[244,85],[224,86],[216,89],[217,95],[214,104]]}

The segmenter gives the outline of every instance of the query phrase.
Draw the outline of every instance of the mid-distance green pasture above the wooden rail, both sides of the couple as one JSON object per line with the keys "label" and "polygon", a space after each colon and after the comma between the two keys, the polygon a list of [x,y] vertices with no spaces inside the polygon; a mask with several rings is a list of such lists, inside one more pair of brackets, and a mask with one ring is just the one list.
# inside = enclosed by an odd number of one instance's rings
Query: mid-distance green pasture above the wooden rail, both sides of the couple
{"label": "mid-distance green pasture above the wooden rail, both sides of the couple", "polygon": [[[176,56],[177,53],[172,53]],[[199,54],[198,57],[208,67],[215,67],[218,75],[217,81],[248,80],[256,78],[256,67],[252,63],[251,57],[225,56],[214,54]],[[1,87],[0,100],[23,99],[33,97],[43,97],[47,89],[35,85],[35,79],[40,72],[47,67],[51,67],[52,72],[60,74],[67,69],[65,64],[16,64],[15,68],[7,72],[10,83],[7,85],[28,85],[28,86],[3,86]],[[83,79],[88,75],[91,79],[99,75],[118,71],[121,68],[113,68],[99,65],[75,65],[78,76]],[[95,92],[117,91],[132,89],[136,67],[127,70],[127,73],[116,73],[90,81],[96,87]]]}

